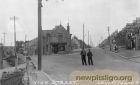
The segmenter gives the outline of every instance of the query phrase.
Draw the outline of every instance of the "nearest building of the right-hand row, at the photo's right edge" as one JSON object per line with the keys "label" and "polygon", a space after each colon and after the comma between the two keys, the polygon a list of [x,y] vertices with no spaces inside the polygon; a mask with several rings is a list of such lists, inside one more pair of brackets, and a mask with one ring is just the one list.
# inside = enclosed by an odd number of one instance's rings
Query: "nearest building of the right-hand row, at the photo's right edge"
{"label": "nearest building of the right-hand row, at the photo's right edge", "polygon": [[126,47],[140,49],[140,18],[126,25]]}

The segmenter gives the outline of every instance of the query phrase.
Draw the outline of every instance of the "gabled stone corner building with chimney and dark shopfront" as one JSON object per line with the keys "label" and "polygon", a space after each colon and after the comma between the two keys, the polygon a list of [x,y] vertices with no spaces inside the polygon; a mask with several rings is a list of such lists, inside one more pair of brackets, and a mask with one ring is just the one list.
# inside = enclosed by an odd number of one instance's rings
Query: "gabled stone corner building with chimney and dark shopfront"
{"label": "gabled stone corner building with chimney and dark shopfront", "polygon": [[43,54],[69,52],[71,50],[71,34],[69,23],[67,29],[61,24],[52,30],[42,31]]}

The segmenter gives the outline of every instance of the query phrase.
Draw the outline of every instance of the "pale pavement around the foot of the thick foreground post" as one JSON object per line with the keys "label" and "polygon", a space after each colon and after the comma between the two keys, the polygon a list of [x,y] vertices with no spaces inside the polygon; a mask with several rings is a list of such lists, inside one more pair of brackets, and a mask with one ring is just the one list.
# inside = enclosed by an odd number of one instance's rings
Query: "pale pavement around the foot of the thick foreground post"
{"label": "pale pavement around the foot of the thick foreground post", "polygon": [[24,85],[57,85],[43,70],[35,69],[31,62],[23,77]]}

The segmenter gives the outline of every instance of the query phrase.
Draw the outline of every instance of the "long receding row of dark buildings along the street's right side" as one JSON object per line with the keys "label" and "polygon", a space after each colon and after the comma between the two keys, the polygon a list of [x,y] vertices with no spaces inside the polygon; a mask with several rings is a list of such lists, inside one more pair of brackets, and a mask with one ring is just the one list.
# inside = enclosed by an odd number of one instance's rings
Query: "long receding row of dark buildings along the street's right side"
{"label": "long receding row of dark buildings along the street's right side", "polygon": [[[137,49],[140,50],[140,18],[137,17],[132,23],[127,23],[121,31],[112,33],[116,44],[121,47],[126,47],[127,49]],[[111,38],[112,39],[112,38]],[[104,44],[108,45],[108,39],[104,40]]]}

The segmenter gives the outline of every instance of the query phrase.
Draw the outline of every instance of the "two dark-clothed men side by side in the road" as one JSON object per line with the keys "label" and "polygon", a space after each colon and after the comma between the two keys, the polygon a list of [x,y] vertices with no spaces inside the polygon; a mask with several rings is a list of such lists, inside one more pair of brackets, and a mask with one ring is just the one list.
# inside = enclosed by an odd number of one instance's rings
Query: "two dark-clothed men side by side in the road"
{"label": "two dark-clothed men side by side in the road", "polygon": [[86,51],[84,49],[82,49],[82,51],[81,51],[82,65],[87,65],[86,56],[88,56],[88,64],[93,65],[93,60],[92,60],[93,54],[90,51],[90,49],[88,50],[88,53],[86,53]]}

